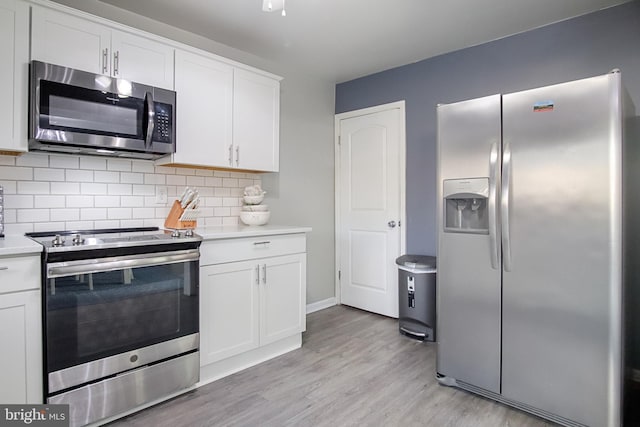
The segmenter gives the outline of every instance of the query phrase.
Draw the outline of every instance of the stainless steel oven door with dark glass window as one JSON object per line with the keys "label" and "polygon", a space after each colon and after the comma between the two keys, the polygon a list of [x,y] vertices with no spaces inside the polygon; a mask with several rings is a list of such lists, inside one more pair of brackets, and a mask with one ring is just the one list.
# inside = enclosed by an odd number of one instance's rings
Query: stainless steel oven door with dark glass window
{"label": "stainless steel oven door with dark glass window", "polygon": [[48,263],[47,392],[198,349],[199,251]]}

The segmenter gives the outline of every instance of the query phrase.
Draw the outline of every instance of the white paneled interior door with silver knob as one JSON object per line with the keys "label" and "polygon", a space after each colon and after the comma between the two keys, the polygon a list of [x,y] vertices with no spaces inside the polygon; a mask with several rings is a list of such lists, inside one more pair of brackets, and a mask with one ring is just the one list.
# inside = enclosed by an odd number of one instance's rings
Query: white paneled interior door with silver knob
{"label": "white paneled interior door with silver knob", "polygon": [[404,102],[336,117],[340,302],[398,317],[404,250]]}

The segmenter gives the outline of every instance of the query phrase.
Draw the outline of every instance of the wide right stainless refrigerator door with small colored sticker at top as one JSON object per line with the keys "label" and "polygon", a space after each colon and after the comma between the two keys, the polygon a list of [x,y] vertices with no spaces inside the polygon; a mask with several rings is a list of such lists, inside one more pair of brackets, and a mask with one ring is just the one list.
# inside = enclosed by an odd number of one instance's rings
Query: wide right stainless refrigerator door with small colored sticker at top
{"label": "wide right stainless refrigerator door with small colored sticker at top", "polygon": [[619,425],[619,112],[619,74],[503,96],[502,394],[591,426]]}

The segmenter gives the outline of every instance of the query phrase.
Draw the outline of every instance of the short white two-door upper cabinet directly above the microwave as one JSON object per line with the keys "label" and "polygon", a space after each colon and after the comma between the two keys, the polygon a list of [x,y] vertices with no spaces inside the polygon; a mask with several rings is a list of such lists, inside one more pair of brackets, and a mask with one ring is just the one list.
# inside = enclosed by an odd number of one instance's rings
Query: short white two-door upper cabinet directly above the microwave
{"label": "short white two-door upper cabinet directly above the microwave", "polygon": [[173,47],[37,6],[31,59],[173,89]]}

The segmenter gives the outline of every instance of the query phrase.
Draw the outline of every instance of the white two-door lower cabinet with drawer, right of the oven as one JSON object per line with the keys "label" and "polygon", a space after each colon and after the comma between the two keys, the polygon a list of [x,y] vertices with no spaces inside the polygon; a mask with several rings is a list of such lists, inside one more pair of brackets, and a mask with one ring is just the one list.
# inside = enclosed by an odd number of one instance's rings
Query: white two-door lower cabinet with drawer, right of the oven
{"label": "white two-door lower cabinet with drawer, right of the oven", "polygon": [[[211,254],[223,248],[225,242],[229,240],[204,242],[201,262],[211,259]],[[265,255],[286,252],[277,245],[271,249],[270,243],[264,242],[264,239],[233,239],[231,246],[245,245],[245,256],[254,259],[201,266],[202,366],[300,335],[305,330],[306,253],[255,258],[256,244]]]}

